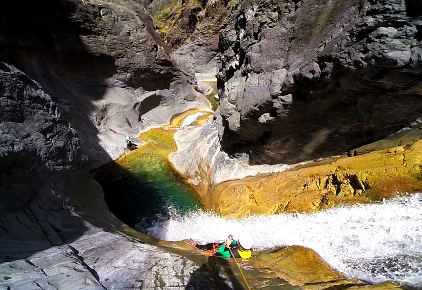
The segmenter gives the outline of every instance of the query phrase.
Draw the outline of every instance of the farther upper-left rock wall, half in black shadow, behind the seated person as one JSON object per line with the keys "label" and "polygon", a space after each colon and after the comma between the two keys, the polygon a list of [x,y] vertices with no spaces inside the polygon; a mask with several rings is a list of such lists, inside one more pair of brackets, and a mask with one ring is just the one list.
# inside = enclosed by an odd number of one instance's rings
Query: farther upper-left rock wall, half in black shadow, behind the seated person
{"label": "farther upper-left rock wall, half in black shadow, behind the seated person", "polygon": [[142,108],[143,95],[152,92],[158,106],[164,100],[154,92],[164,91],[176,113],[209,105],[195,90],[195,77],[170,61],[134,1],[31,0],[8,4],[0,17],[0,57],[54,98],[81,138],[89,169],[124,153],[126,135],[161,124],[142,116],[153,109]]}

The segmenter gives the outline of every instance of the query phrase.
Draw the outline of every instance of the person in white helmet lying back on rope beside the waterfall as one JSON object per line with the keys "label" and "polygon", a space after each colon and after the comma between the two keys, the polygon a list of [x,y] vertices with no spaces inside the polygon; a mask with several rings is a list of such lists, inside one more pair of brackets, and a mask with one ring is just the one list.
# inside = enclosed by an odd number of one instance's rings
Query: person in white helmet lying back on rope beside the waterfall
{"label": "person in white helmet lying back on rope beside the waterfall", "polygon": [[[254,238],[248,234],[239,235],[239,238],[233,240],[233,236],[229,235],[224,243],[209,243],[206,245],[199,245],[192,239],[189,243],[195,248],[207,251],[210,255],[223,258],[240,258],[248,259],[252,256],[252,247],[254,246]],[[230,249],[229,249],[230,248]]]}

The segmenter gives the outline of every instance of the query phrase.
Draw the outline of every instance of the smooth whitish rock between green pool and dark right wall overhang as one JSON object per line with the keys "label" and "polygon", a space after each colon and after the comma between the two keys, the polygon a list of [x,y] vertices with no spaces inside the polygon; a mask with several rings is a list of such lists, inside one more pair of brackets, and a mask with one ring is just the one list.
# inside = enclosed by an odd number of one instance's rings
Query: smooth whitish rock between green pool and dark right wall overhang
{"label": "smooth whitish rock between green pool and dark right wall overhang", "polygon": [[263,173],[287,170],[293,166],[249,165],[243,155],[231,158],[221,150],[218,126],[211,119],[202,127],[188,127],[174,134],[177,151],[169,160],[184,178],[194,185],[204,201],[207,194],[217,184],[227,180],[243,179]]}

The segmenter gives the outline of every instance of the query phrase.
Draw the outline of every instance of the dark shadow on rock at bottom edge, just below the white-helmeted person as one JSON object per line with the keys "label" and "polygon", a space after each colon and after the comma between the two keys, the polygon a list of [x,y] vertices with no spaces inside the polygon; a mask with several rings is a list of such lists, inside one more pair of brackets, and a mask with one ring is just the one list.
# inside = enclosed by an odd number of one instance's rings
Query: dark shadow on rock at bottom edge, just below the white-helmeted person
{"label": "dark shadow on rock at bottom edge, just below the white-helmeted person", "polygon": [[226,259],[209,257],[206,263],[191,274],[185,289],[242,290],[246,287],[237,279]]}

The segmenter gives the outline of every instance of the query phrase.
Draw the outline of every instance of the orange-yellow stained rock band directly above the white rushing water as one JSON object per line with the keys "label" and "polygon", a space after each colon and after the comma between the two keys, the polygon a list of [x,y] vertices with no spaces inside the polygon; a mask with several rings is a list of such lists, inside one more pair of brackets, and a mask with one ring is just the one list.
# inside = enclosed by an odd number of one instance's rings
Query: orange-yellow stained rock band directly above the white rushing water
{"label": "orange-yellow stained rock band directly above the white rushing water", "polygon": [[312,212],[422,190],[422,140],[341,158],[328,164],[227,181],[203,194],[217,213],[233,217]]}

